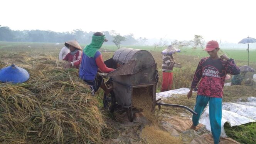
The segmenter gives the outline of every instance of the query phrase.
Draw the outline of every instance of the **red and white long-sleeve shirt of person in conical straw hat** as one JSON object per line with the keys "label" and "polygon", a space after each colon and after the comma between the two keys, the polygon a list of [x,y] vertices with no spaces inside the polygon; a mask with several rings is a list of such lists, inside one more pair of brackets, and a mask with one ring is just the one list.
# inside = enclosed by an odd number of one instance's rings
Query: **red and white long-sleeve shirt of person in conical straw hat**
{"label": "red and white long-sleeve shirt of person in conical straw hat", "polygon": [[77,51],[74,55],[68,53],[63,60],[71,62],[71,65],[78,69],[82,61],[82,54],[81,50]]}

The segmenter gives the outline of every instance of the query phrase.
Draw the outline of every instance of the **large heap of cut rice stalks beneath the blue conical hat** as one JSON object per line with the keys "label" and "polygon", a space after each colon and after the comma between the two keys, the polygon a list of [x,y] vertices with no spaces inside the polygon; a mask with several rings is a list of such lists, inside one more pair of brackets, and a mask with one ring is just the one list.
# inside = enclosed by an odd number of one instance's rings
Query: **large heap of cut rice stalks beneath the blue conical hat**
{"label": "large heap of cut rice stalks beneath the blue conical hat", "polygon": [[107,126],[78,70],[56,60],[32,67],[29,81],[0,83],[0,143],[103,143]]}

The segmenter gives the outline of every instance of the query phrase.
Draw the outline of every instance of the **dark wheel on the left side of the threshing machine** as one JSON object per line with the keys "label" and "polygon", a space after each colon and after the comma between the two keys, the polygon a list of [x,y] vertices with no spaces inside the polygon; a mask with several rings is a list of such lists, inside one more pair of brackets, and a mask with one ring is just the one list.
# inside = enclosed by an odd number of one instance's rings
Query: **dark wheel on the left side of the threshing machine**
{"label": "dark wheel on the left side of the threshing machine", "polygon": [[108,95],[104,94],[104,97],[103,97],[104,108],[108,109],[110,113],[113,113],[115,111],[115,104],[116,104],[116,100],[115,100],[114,91],[110,91]]}

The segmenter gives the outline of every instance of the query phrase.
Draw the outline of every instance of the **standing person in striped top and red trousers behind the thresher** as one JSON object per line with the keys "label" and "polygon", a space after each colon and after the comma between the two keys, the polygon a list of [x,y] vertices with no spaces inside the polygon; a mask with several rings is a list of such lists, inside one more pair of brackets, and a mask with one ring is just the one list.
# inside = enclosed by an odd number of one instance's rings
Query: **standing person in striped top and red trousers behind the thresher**
{"label": "standing person in striped top and red trousers behind the thresher", "polygon": [[172,45],[169,45],[167,49],[162,51],[163,55],[163,82],[161,91],[168,91],[172,88],[172,79],[173,79],[173,67],[181,68],[179,63],[175,63],[173,54],[180,52],[179,49],[174,48]]}

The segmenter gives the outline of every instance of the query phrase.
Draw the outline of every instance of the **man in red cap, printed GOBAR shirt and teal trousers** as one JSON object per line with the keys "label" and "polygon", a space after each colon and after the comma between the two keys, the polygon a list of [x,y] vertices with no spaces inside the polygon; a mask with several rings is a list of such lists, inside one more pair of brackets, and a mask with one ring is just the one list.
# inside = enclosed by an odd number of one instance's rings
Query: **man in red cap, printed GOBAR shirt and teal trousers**
{"label": "man in red cap, printed GOBAR shirt and teal trousers", "polygon": [[187,98],[191,98],[192,90],[200,83],[197,91],[197,98],[195,103],[195,112],[193,114],[193,124],[191,129],[195,129],[199,123],[199,118],[204,111],[205,106],[209,102],[209,116],[212,136],[214,144],[219,144],[221,135],[221,118],[222,118],[222,96],[223,86],[227,73],[239,74],[240,69],[236,66],[232,58],[227,57],[226,54],[219,56],[220,50],[217,41],[209,41],[204,49],[210,57],[202,58],[195,71],[194,78],[191,84],[191,89],[187,94]]}

